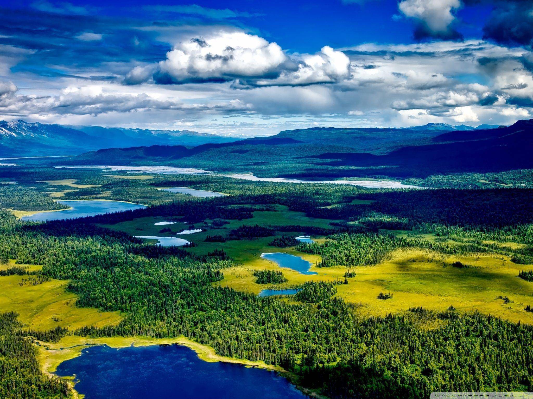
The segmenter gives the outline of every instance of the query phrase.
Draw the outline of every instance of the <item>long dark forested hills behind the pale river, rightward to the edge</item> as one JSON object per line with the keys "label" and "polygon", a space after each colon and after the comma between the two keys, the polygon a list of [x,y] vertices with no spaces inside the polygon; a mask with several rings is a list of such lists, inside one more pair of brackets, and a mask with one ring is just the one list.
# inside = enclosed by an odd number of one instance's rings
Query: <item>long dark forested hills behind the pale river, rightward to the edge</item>
{"label": "long dark forested hills behind the pale river, rightward to the edge", "polygon": [[155,163],[308,179],[377,175],[425,178],[431,174],[531,169],[532,150],[530,120],[510,127],[445,132],[434,127],[292,130],[270,138],[195,148],[106,149],[63,163]]}

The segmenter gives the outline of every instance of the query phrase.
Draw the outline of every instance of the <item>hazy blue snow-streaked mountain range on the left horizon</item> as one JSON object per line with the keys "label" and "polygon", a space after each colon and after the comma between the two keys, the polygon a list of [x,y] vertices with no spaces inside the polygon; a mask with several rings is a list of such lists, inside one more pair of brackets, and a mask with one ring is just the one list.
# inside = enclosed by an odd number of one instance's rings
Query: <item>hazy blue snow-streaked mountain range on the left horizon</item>
{"label": "hazy blue snow-streaked mountain range on the left horizon", "polygon": [[190,130],[149,130],[62,126],[23,120],[0,121],[0,156],[75,155],[99,148],[141,145],[197,146],[230,143],[223,137]]}

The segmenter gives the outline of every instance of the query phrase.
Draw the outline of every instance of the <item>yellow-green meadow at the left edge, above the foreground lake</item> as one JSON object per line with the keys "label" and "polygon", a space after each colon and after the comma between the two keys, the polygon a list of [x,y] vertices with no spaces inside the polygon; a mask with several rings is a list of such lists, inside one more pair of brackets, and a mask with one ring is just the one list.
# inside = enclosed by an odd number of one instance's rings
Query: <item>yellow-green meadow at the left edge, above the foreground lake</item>
{"label": "yellow-green meadow at the left edge, above the foreground lake", "polygon": [[[29,270],[38,268],[31,265]],[[115,325],[123,318],[118,312],[76,307],[77,296],[66,291],[68,280],[51,280],[37,285],[26,281],[24,284],[23,281],[28,280],[28,277],[0,277],[0,312],[19,313],[19,319],[30,329],[103,327]]]}

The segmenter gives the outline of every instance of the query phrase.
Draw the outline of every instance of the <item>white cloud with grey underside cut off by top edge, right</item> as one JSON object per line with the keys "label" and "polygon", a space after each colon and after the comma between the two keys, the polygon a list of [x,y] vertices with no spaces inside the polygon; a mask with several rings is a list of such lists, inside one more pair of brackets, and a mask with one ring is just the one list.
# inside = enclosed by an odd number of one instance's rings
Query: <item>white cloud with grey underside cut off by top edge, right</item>
{"label": "white cloud with grey underside cut off by top edge, right", "polygon": [[415,37],[459,38],[451,27],[454,11],[461,7],[459,0],[403,0],[398,4],[403,15],[417,21]]}

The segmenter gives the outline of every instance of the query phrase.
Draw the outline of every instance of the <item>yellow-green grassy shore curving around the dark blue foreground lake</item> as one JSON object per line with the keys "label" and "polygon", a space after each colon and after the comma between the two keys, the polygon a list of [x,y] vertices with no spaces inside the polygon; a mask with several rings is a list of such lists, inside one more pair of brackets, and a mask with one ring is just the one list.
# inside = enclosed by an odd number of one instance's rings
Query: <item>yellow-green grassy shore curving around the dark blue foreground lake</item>
{"label": "yellow-green grassy shore curving around the dark blue foreground lake", "polygon": [[50,377],[61,378],[69,382],[72,393],[75,398],[82,399],[83,394],[80,394],[75,389],[74,378],[72,376],[58,376],[55,374],[60,363],[77,358],[82,355],[82,350],[90,346],[107,345],[111,348],[125,348],[125,347],[141,347],[151,345],[182,345],[194,351],[198,359],[209,363],[225,362],[233,364],[241,364],[248,368],[261,368],[264,370],[277,372],[281,377],[286,378],[290,384],[293,384],[298,390],[305,395],[318,399],[328,399],[327,396],[320,395],[311,389],[301,386],[299,378],[294,373],[285,370],[284,368],[272,364],[267,364],[263,361],[250,361],[246,359],[230,358],[222,356],[215,352],[214,348],[209,345],[197,343],[185,336],[176,338],[151,338],[146,336],[135,337],[101,337],[88,338],[80,336],[63,337],[58,343],[44,343],[42,341],[33,339],[37,347],[37,360],[41,366],[42,372]]}

